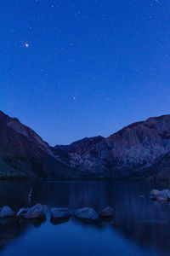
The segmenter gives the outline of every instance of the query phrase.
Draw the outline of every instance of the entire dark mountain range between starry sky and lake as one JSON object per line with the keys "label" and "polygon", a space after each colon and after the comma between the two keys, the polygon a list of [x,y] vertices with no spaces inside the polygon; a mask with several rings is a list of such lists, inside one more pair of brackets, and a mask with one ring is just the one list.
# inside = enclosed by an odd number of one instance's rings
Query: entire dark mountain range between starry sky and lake
{"label": "entire dark mountain range between starry sky and lake", "polygon": [[170,179],[170,115],[52,148],[0,111],[0,178],[16,177]]}

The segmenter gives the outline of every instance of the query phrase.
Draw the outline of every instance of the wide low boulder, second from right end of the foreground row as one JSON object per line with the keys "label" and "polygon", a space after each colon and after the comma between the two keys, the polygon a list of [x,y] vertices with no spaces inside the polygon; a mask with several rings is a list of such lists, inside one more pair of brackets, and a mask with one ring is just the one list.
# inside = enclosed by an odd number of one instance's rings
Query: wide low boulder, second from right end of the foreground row
{"label": "wide low boulder, second from right end of the foreground row", "polygon": [[94,208],[80,208],[75,211],[75,216],[81,218],[82,220],[97,220],[99,218],[98,213],[95,212]]}

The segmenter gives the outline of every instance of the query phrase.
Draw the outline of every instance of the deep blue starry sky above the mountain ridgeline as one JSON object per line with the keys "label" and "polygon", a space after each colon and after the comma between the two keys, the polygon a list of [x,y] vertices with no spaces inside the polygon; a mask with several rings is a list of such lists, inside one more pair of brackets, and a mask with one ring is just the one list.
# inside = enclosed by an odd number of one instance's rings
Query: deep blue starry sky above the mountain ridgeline
{"label": "deep blue starry sky above the mountain ridgeline", "polygon": [[0,109],[51,145],[170,113],[170,1],[0,1]]}

